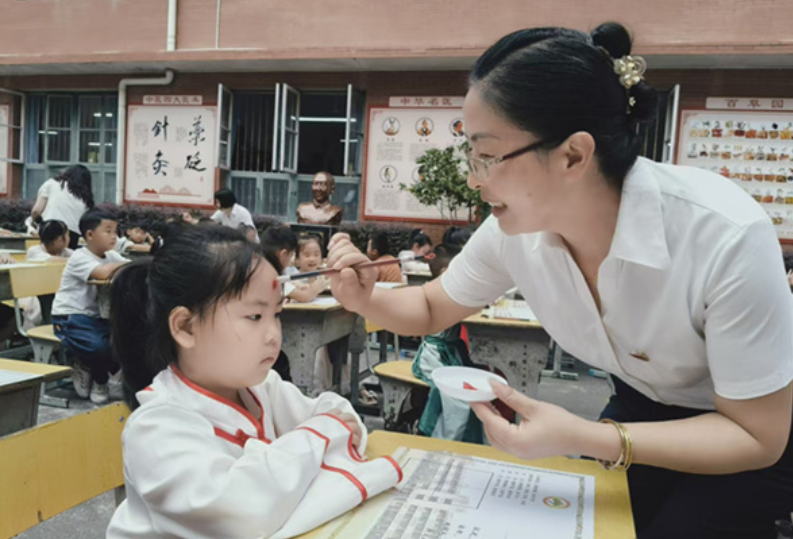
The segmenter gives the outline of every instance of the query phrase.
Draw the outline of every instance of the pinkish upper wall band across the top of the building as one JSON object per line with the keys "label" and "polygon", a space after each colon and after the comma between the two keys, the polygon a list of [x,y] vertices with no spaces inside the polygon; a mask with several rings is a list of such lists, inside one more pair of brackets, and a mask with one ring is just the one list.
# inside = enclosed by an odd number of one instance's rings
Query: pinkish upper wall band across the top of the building
{"label": "pinkish upper wall band across the top of the building", "polygon": [[[619,20],[645,54],[790,54],[790,0],[3,0],[0,63],[476,56],[519,28]],[[215,29],[219,46],[215,47]],[[113,54],[113,56],[110,56]]]}

